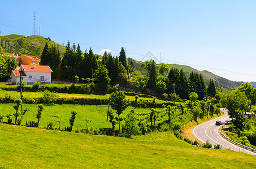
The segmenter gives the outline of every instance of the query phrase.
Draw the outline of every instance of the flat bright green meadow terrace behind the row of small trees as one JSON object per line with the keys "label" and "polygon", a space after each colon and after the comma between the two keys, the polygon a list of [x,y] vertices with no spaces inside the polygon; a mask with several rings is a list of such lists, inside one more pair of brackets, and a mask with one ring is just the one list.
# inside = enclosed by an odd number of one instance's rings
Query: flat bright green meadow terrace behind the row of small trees
{"label": "flat bright green meadow terrace behind the row of small trees", "polygon": [[[13,108],[15,104],[0,104],[0,115],[13,114],[15,109]],[[30,111],[26,113],[23,117],[21,125],[25,125],[25,122],[28,121],[37,121],[36,119],[36,104],[23,104],[23,109],[29,108]],[[125,117],[126,114],[132,109],[128,107],[120,117]],[[111,107],[110,107],[111,110]],[[21,110],[19,109],[19,112]],[[106,122],[107,118],[107,105],[71,105],[71,104],[53,104],[45,106],[42,112],[42,117],[40,119],[39,127],[45,128],[47,123],[53,123],[54,128],[59,128],[58,118],[54,117],[57,115],[62,115],[62,120],[60,123],[60,128],[64,126],[69,126],[69,119],[71,117],[71,111],[76,111],[78,114],[75,119],[74,129],[75,128],[85,128],[86,122],[85,119],[89,119],[92,122],[88,122],[87,127],[90,128],[111,128],[111,123]],[[148,113],[150,109],[137,108],[135,112]],[[21,118],[21,116],[19,117]],[[7,118],[3,117],[3,121],[7,122]],[[12,122],[14,122],[14,117],[12,117]]]}

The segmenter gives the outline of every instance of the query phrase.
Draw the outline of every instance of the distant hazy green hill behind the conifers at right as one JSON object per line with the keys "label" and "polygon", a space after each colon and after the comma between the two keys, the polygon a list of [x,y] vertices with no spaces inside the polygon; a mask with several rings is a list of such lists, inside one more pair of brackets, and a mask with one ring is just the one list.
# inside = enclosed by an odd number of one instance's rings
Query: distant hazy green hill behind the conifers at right
{"label": "distant hazy green hill behind the conifers at right", "polygon": [[202,74],[203,79],[205,80],[205,84],[208,86],[210,79],[214,80],[215,83],[215,87],[218,88],[218,90],[235,90],[237,87],[239,87],[243,82],[237,82],[237,81],[230,81],[229,79],[220,77],[216,74],[213,74],[207,70],[203,70],[202,72],[191,68],[190,66],[186,66],[186,65],[178,65],[178,64],[167,64],[170,69],[171,68],[176,68],[176,69],[183,69],[183,71],[186,73],[186,77],[189,77],[189,74],[191,72],[197,72],[199,74]]}

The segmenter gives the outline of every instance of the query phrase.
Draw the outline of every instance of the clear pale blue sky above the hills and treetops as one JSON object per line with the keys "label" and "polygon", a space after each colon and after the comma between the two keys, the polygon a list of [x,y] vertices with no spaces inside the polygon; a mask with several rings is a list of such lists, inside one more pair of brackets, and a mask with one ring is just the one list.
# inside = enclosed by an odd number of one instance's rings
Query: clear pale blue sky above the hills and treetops
{"label": "clear pale blue sky above the hills and treetops", "polygon": [[[1,35],[37,34],[83,51],[208,70],[256,81],[256,1],[1,1]],[[154,59],[153,56],[151,58]]]}

